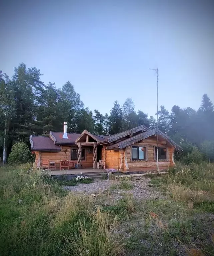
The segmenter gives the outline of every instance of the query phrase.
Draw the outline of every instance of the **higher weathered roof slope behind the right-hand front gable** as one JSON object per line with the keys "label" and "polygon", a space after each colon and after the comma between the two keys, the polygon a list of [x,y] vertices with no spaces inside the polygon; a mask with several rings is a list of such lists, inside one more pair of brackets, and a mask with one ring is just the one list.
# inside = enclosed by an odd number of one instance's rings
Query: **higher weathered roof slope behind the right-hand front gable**
{"label": "higher weathered roof slope behind the right-hand front gable", "polygon": [[102,144],[104,144],[104,142],[105,143],[111,143],[111,142],[114,142],[118,139],[122,139],[123,137],[129,136],[129,135],[132,135],[134,133],[141,132],[141,131],[146,132],[146,131],[150,131],[150,129],[145,125],[140,125],[140,126],[137,126],[135,128],[129,129],[127,131],[111,135],[107,139],[103,140]]}

